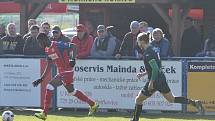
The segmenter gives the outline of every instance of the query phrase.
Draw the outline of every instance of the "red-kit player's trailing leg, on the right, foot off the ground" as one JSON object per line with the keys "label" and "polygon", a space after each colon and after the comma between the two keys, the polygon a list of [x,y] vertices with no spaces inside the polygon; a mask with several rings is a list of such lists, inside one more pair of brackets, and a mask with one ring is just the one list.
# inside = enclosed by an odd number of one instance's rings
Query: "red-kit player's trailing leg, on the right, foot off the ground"
{"label": "red-kit player's trailing leg, on the right, foot off the ground", "polygon": [[85,95],[82,91],[74,88],[73,72],[66,71],[65,73],[63,73],[63,77],[64,87],[67,89],[68,93],[72,96],[77,97],[79,100],[88,103],[90,106],[88,115],[92,116],[96,112],[99,105],[95,101],[90,99],[87,95]]}

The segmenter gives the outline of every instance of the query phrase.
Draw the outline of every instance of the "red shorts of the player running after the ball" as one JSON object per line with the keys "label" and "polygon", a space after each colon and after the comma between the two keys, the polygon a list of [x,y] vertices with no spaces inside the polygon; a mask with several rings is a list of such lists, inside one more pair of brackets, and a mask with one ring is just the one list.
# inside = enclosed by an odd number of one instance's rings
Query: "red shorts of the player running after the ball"
{"label": "red shorts of the player running after the ball", "polygon": [[58,73],[56,76],[60,78],[64,85],[73,84],[73,71],[64,71]]}

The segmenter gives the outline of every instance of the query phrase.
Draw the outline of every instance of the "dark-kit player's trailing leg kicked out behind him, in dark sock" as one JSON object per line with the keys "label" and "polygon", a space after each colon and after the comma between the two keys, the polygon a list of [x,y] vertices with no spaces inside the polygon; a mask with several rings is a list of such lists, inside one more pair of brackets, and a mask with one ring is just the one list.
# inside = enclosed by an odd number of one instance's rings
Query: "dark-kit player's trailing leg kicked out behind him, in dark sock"
{"label": "dark-kit player's trailing leg kicked out behind him, in dark sock", "polygon": [[201,115],[204,115],[204,108],[202,106],[201,101],[199,100],[191,100],[188,99],[186,97],[180,96],[180,97],[175,97],[173,96],[172,92],[168,92],[168,93],[162,93],[162,95],[170,102],[170,103],[181,103],[181,104],[190,104],[194,107],[197,108],[198,112]]}

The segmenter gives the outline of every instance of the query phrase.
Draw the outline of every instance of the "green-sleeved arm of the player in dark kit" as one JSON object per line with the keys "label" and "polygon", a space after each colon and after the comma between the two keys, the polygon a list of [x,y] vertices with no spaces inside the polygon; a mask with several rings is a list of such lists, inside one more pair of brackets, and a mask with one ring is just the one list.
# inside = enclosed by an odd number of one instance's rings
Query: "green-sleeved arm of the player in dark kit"
{"label": "green-sleeved arm of the player in dark kit", "polygon": [[159,72],[159,67],[157,65],[157,62],[155,61],[155,59],[151,59],[149,61],[149,64],[152,68],[152,76],[151,76],[151,80],[150,81],[155,81],[158,77],[158,72]]}

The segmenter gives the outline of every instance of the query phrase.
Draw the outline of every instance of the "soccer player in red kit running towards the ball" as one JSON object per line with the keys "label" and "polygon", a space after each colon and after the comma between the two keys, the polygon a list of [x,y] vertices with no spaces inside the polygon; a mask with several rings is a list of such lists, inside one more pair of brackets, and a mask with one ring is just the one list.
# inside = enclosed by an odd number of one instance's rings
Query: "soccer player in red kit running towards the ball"
{"label": "soccer player in red kit running towards the ball", "polygon": [[75,89],[73,85],[72,69],[76,62],[76,46],[72,43],[50,41],[45,33],[40,33],[37,36],[37,40],[39,45],[45,49],[45,53],[48,56],[48,63],[41,78],[32,83],[33,86],[36,87],[44,80],[48,70],[51,67],[51,63],[56,65],[58,74],[47,84],[43,111],[40,113],[35,113],[35,116],[39,119],[46,120],[53,90],[62,84],[68,91],[69,95],[75,96],[90,105],[88,116],[92,116],[96,112],[99,105],[95,101],[88,98],[83,92]]}

